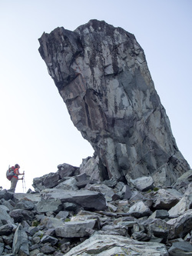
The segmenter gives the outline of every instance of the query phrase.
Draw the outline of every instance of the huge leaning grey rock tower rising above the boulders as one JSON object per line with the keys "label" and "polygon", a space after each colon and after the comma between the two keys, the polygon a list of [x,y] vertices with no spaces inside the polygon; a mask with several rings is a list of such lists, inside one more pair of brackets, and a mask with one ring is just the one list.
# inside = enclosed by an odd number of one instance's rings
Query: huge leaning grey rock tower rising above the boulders
{"label": "huge leaning grey rock tower rising above the boulders", "polygon": [[101,179],[151,175],[170,185],[190,169],[134,35],[91,20],[74,32],[55,28],[39,42],[71,120],[98,155]]}

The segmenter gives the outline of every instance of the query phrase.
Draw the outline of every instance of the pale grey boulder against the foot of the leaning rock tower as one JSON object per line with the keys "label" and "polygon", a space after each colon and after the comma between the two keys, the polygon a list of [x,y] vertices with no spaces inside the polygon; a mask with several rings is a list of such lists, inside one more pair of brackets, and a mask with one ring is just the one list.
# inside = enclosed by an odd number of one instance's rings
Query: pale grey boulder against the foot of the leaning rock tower
{"label": "pale grey boulder against the foot of the leaning rock tower", "polygon": [[154,180],[151,177],[141,177],[136,178],[135,180],[130,180],[131,184],[139,191],[148,191],[151,188],[154,188]]}

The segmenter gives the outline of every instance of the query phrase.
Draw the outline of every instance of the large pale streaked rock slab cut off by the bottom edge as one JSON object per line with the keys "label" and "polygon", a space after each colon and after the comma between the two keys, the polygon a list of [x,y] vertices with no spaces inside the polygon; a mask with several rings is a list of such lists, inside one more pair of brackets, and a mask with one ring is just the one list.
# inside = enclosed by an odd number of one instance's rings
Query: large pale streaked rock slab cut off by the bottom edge
{"label": "large pale streaked rock slab cut off by the bottom edge", "polygon": [[94,234],[75,248],[72,248],[65,256],[85,255],[155,255],[168,256],[164,244],[135,241],[120,235]]}

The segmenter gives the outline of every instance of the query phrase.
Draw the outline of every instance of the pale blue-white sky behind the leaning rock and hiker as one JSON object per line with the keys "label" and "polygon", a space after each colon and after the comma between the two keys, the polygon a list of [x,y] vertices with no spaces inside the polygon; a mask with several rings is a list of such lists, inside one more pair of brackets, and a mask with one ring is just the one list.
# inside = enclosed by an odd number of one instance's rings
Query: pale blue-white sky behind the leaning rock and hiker
{"label": "pale blue-white sky behind the leaning rock and hiker", "polygon": [[[57,27],[74,30],[90,19],[133,33],[144,49],[177,146],[192,167],[192,1],[0,0],[0,186],[8,165],[33,178],[79,166],[93,149],[74,128],[65,103],[38,53],[38,38]],[[16,192],[22,192],[19,181]]]}

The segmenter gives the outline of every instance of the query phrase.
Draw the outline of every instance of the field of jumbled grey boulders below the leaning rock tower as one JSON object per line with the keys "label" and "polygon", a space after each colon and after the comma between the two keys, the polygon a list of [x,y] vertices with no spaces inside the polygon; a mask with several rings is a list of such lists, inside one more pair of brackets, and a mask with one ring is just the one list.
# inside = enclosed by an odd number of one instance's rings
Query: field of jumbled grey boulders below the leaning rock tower
{"label": "field of jumbled grey boulders below the leaning rock tower", "polygon": [[192,255],[192,170],[156,188],[151,177],[96,181],[64,164],[33,186],[0,191],[1,255]]}

